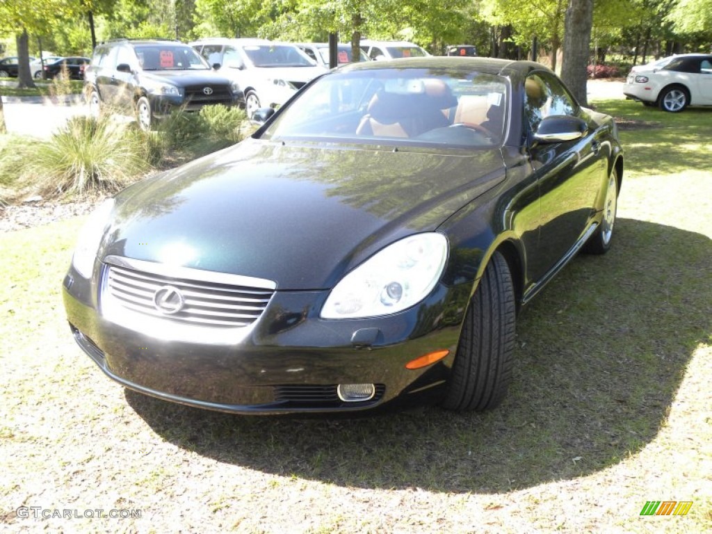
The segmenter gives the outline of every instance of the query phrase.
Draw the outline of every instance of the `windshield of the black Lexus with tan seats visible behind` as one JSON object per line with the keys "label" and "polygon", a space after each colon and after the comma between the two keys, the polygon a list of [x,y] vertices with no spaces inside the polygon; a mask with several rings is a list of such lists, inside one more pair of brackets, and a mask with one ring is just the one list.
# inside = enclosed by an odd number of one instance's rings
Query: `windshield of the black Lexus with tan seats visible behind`
{"label": "windshield of the black Lexus with tan seats visible behind", "polygon": [[324,75],[263,139],[491,147],[501,143],[507,80],[470,70],[383,68]]}

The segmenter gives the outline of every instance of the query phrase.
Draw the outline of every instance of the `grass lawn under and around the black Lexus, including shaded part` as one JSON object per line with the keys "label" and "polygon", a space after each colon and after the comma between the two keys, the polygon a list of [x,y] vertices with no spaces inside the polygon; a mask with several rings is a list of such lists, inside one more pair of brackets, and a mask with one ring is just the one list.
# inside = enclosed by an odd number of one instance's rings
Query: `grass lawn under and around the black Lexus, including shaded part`
{"label": "grass lawn under and around the black Lexus, including shaded part", "polygon": [[[712,110],[595,104],[624,125],[614,247],[576,258],[523,310],[511,394],[486,414],[248,418],[125,392],[63,316],[82,219],[0,235],[0,527],[709,531]],[[646,501],[693,505],[642,517]]]}

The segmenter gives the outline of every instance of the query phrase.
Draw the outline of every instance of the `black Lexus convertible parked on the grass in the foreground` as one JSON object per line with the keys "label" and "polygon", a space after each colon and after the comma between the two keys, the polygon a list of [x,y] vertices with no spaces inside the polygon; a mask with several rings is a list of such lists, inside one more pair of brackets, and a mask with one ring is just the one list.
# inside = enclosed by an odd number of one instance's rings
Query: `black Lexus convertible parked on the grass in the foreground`
{"label": "black Lexus convertible parked on the grass in the foreground", "polygon": [[491,408],[520,305],[611,246],[616,126],[538,63],[353,64],[255,118],[80,234],[70,328],[125,387],[239,413]]}

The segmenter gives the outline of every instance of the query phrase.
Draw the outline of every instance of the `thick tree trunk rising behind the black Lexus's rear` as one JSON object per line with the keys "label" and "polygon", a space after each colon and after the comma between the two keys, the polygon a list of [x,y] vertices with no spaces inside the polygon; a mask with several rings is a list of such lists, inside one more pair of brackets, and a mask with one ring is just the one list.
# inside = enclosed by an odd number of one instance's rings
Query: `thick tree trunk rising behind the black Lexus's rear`
{"label": "thick tree trunk rising behind the black Lexus's rear", "polygon": [[593,0],[570,0],[564,22],[561,79],[582,105],[588,105],[586,67],[590,53],[592,26]]}

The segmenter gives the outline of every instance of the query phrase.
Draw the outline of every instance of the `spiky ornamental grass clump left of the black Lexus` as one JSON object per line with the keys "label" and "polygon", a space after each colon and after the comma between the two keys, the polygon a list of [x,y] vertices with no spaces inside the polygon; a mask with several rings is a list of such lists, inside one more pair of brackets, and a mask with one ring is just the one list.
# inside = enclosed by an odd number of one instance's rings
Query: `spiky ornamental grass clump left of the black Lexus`
{"label": "spiky ornamental grass clump left of the black Lexus", "polygon": [[111,117],[73,117],[36,147],[24,174],[43,194],[85,194],[117,191],[149,169],[135,127]]}

